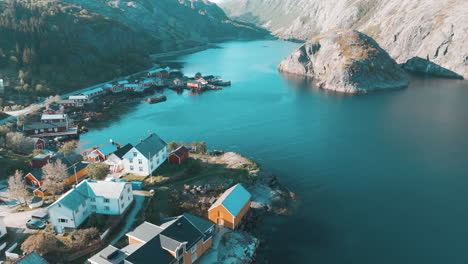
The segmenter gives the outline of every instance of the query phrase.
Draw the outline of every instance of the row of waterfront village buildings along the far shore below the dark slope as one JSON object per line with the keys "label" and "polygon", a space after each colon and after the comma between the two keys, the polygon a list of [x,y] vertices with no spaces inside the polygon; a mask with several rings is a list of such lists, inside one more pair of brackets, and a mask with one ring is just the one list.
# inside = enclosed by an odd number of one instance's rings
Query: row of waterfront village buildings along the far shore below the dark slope
{"label": "row of waterfront village buildings along the far shore below the dark slope", "polygon": [[[213,75],[202,76],[196,73],[194,77],[187,77],[180,70],[159,68],[150,70],[143,77],[137,80],[121,80],[113,83],[106,83],[98,87],[93,87],[79,94],[69,95],[47,105],[46,111],[39,120],[28,122],[23,126],[23,131],[29,136],[40,135],[40,137],[77,137],[84,132],[79,124],[89,121],[86,115],[77,115],[83,112],[87,106],[96,103],[118,103],[139,101],[141,97],[151,95],[158,89],[168,88],[181,91],[184,89],[192,92],[202,92],[205,90],[220,90],[219,86],[229,86],[230,81],[223,81],[220,77]],[[146,102],[153,104],[165,101],[164,95],[148,97]],[[70,118],[69,113],[74,118]]]}

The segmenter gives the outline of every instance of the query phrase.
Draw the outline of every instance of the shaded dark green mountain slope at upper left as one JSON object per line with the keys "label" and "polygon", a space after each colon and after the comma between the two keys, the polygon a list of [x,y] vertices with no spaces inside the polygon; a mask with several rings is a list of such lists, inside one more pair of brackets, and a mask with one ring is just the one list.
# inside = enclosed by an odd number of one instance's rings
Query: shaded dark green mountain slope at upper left
{"label": "shaded dark green mountain slope at upper left", "polygon": [[61,93],[149,67],[151,53],[267,34],[207,0],[0,1],[0,76],[10,95]]}

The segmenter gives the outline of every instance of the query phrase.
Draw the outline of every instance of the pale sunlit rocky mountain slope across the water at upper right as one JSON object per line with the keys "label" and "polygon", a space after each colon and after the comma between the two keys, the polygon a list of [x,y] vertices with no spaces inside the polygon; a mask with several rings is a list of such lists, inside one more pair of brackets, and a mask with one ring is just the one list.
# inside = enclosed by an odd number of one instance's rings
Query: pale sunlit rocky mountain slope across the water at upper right
{"label": "pale sunlit rocky mountain slope across the water at upper right", "polygon": [[465,0],[227,0],[234,19],[306,40],[335,28],[374,38],[399,63],[419,56],[468,77]]}

